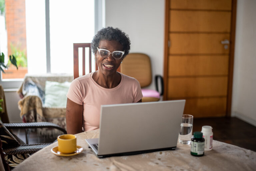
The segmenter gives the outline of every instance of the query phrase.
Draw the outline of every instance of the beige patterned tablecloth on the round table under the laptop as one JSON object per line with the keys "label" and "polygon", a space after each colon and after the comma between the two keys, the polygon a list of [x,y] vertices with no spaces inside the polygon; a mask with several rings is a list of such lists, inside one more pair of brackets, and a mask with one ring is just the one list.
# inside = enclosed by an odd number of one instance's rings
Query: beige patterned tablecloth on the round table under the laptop
{"label": "beige patterned tablecloth on the round table under the laptop", "polygon": [[205,151],[202,157],[190,155],[190,146],[178,143],[176,150],[99,159],[84,140],[98,136],[98,130],[77,134],[77,145],[82,146],[84,150],[72,157],[58,157],[52,154],[51,148],[58,145],[57,142],[53,143],[26,159],[14,171],[256,170],[256,152],[219,141],[213,141],[213,150]]}

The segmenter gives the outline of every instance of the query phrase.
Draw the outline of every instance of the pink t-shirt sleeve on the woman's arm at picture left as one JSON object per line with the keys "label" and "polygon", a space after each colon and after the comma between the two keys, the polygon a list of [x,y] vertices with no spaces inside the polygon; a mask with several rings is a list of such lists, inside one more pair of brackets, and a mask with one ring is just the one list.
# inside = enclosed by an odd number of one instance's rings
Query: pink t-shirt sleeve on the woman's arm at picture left
{"label": "pink t-shirt sleeve on the woman's arm at picture left", "polygon": [[80,82],[77,79],[73,80],[68,89],[67,97],[73,102],[83,105],[83,94]]}

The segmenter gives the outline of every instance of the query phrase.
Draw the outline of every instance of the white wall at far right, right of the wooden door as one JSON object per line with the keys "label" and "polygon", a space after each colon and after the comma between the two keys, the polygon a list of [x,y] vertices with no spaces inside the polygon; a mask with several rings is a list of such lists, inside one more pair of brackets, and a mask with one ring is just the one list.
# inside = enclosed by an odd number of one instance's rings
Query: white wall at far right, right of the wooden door
{"label": "white wall at far right, right of the wooden door", "polygon": [[256,126],[256,1],[238,0],[232,116]]}

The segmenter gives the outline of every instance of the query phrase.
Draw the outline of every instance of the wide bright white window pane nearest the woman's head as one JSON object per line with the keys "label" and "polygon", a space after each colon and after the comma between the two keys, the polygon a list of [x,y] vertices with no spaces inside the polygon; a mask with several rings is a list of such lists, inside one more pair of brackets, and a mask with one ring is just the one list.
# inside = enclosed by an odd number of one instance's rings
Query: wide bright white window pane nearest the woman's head
{"label": "wide bright white window pane nearest the woman's head", "polygon": [[94,0],[67,2],[50,1],[51,73],[72,74],[73,43],[90,43],[94,36]]}

